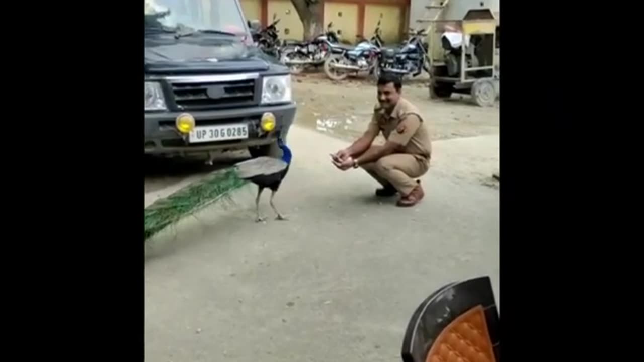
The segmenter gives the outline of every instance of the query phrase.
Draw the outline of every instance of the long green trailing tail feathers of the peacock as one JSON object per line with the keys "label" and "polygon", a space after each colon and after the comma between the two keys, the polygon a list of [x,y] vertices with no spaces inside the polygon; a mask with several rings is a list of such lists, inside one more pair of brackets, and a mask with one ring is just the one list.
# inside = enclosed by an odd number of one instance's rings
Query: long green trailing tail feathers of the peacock
{"label": "long green trailing tail feathers of the peacock", "polygon": [[236,169],[215,171],[201,180],[156,200],[145,210],[145,240],[173,225],[185,216],[196,213],[221,198],[230,196],[231,191],[247,184]]}

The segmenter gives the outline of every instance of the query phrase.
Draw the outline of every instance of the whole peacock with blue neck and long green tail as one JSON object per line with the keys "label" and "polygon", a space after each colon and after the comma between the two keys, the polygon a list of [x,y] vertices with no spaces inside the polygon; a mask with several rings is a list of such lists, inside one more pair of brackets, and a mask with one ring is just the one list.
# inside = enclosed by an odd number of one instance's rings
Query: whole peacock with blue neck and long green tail
{"label": "whole peacock with blue neck and long green tail", "polygon": [[258,186],[255,199],[257,222],[265,220],[260,217],[260,196],[263,189],[267,187],[271,191],[270,207],[277,214],[277,220],[287,220],[275,207],[273,198],[282,180],[289,172],[292,153],[281,137],[278,138],[277,144],[282,152],[281,158],[263,156],[238,162],[228,169],[215,171],[198,182],[194,182],[194,184],[180,189],[166,198],[160,198],[154,204],[146,207],[145,239],[147,240],[167,226],[175,224],[184,216],[194,214],[217,200],[229,197],[232,191],[248,182]]}

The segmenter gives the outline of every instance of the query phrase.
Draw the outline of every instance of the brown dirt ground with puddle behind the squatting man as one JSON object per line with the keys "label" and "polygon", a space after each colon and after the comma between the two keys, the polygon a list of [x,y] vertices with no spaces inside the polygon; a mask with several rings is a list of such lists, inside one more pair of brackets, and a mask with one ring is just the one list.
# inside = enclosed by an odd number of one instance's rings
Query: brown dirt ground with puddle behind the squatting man
{"label": "brown dirt ground with puddle behind the squatting man", "polygon": [[[298,102],[296,124],[348,140],[363,133],[376,102],[371,79],[332,82],[323,73],[294,77],[293,94]],[[424,113],[434,140],[498,134],[498,102],[482,108],[466,95],[430,100],[427,79],[422,76],[404,82],[403,97]]]}

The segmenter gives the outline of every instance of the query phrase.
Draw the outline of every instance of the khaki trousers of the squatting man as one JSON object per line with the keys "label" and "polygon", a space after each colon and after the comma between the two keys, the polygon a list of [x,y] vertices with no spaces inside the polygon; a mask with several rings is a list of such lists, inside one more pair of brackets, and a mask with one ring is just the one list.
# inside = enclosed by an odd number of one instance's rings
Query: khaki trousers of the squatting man
{"label": "khaki trousers of the squatting man", "polygon": [[381,185],[391,185],[406,196],[417,186],[414,178],[424,175],[430,164],[409,153],[393,153],[361,167]]}

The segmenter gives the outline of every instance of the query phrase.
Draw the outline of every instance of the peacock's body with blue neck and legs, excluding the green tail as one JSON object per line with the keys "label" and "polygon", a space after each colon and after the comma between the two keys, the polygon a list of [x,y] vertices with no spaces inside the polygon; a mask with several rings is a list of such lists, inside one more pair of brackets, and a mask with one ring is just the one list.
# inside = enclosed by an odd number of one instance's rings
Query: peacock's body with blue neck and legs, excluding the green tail
{"label": "peacock's body with blue neck and legs, excluding the green tail", "polygon": [[281,149],[281,158],[274,158],[268,156],[251,158],[251,160],[238,162],[235,164],[234,170],[239,178],[249,180],[257,185],[257,196],[255,198],[255,214],[256,222],[263,222],[265,218],[260,216],[260,196],[265,188],[270,189],[270,207],[277,214],[276,220],[287,220],[273,202],[275,193],[277,193],[282,180],[284,180],[287,173],[289,173],[290,162],[292,153],[289,147],[284,144],[281,137],[277,140],[278,147]]}

